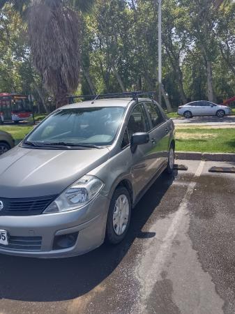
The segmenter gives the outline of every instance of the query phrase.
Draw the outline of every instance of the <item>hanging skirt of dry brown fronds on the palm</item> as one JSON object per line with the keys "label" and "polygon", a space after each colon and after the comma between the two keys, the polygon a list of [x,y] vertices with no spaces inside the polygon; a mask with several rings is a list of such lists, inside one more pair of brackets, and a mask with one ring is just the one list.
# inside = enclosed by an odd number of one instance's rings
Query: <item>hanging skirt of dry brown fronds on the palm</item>
{"label": "hanging skirt of dry brown fronds on the palm", "polygon": [[[58,2],[57,2],[58,3]],[[53,94],[72,92],[79,82],[79,20],[62,5],[38,3],[27,13],[33,63]]]}

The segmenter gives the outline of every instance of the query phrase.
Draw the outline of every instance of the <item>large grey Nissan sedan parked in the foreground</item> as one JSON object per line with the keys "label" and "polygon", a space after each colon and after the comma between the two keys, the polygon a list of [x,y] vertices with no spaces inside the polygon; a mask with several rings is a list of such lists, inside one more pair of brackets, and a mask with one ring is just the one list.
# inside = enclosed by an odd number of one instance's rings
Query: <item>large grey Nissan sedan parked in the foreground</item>
{"label": "large grey Nissan sedan parked in the foreground", "polygon": [[70,257],[118,244],[131,211],[174,168],[174,124],[151,98],[54,111],[0,158],[0,253]]}

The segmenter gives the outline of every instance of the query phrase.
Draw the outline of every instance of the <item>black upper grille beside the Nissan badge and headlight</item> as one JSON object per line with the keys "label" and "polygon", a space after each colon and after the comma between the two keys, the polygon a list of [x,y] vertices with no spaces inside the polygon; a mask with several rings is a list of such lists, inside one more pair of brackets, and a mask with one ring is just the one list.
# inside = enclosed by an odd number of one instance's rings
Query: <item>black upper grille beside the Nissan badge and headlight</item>
{"label": "black upper grille beside the Nissan badge and headlight", "polygon": [[40,215],[56,198],[56,195],[30,198],[1,198],[3,209],[0,216]]}

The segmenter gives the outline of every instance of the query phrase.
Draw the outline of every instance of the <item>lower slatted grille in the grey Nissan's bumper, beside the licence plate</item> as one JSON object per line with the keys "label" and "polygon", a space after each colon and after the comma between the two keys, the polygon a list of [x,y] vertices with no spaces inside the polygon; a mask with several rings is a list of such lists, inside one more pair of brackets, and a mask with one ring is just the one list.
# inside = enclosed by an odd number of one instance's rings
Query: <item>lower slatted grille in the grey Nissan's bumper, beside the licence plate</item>
{"label": "lower slatted grille in the grey Nissan's bumper, beside the licence plate", "polygon": [[42,237],[8,237],[8,246],[0,244],[0,248],[15,251],[40,251]]}

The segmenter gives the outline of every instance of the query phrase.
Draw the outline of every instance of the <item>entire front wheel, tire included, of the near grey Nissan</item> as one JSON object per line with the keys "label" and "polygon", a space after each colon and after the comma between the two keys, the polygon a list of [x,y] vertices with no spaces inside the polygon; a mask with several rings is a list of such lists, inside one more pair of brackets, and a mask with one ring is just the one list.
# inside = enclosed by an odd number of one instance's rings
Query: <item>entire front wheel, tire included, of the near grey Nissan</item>
{"label": "entire front wheel, tire included, of the near grey Nissan", "polygon": [[[124,207],[119,209],[119,204],[123,200]],[[119,205],[119,206],[118,206]],[[122,204],[121,204],[122,206]],[[122,186],[116,188],[112,195],[109,205],[109,213],[107,215],[105,242],[108,244],[119,244],[126,237],[130,226],[131,201],[128,190]],[[121,212],[121,214],[120,214]],[[121,215],[121,216],[119,216]],[[122,219],[121,219],[122,218]],[[122,225],[122,230],[121,230]]]}

